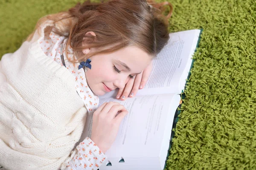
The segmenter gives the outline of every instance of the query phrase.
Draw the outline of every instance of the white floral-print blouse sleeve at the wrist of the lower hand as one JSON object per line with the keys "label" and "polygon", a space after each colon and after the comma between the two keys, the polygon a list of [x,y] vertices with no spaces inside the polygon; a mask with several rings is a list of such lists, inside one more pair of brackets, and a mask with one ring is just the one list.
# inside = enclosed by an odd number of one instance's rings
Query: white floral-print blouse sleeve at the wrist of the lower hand
{"label": "white floral-print blouse sleeve at the wrist of the lower hand", "polygon": [[61,170],[97,170],[105,159],[105,154],[87,137],[62,164]]}

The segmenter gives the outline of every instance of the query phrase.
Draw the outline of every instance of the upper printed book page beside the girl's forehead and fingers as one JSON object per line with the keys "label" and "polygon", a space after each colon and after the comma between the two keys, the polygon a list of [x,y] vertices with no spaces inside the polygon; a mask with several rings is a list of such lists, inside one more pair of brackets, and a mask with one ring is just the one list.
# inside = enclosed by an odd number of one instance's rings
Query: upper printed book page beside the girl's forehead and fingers
{"label": "upper printed book page beside the girl's forehead and fingers", "polygon": [[[200,29],[170,33],[170,39],[162,51],[153,59],[153,68],[143,89],[136,95],[180,93],[186,84],[192,64]],[[117,95],[118,89],[100,98]]]}

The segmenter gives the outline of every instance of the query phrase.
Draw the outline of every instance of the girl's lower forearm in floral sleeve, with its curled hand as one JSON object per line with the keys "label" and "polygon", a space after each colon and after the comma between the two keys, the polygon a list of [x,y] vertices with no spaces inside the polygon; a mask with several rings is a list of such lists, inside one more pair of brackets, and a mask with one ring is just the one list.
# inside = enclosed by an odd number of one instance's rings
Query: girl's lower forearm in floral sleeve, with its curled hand
{"label": "girl's lower forearm in floral sleeve, with its curled hand", "polygon": [[[120,112],[119,112],[120,111]],[[116,113],[119,112],[118,115]],[[116,102],[102,104],[93,113],[92,135],[93,141],[106,152],[113,144],[122,119],[127,115],[125,107]],[[71,153],[61,170],[96,170],[106,159],[105,155],[90,138],[85,138]]]}

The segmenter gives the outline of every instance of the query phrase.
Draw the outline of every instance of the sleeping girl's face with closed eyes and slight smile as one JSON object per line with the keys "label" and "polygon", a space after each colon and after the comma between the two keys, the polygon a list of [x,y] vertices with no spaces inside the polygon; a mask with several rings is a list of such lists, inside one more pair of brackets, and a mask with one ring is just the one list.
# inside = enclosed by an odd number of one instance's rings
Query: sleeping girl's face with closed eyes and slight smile
{"label": "sleeping girl's face with closed eyes and slight smile", "polygon": [[[93,49],[84,49],[86,54]],[[95,95],[109,92],[106,86],[114,90],[122,89],[131,76],[142,72],[152,57],[136,46],[128,46],[111,54],[94,55],[91,58],[91,69],[85,73],[87,84]]]}

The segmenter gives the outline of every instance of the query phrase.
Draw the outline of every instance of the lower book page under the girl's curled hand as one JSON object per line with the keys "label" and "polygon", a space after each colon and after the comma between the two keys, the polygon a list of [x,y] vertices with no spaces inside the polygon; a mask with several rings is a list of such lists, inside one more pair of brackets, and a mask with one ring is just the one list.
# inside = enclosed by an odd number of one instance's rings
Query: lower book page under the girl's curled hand
{"label": "lower book page under the girl's curled hand", "polygon": [[[128,110],[128,114],[119,126],[112,147],[106,152],[109,160],[116,156],[127,158],[126,161],[129,157],[159,158],[162,144],[169,144],[168,140],[172,133],[173,118],[179,105],[180,95],[140,95],[128,98],[126,101],[103,98],[99,105],[109,101],[118,102]],[[85,137],[90,137],[92,120],[92,115],[88,115],[80,142]],[[167,124],[168,126],[166,126]],[[166,146],[167,155],[169,145],[164,146]],[[112,161],[118,162],[119,160],[111,160],[111,163]]]}

